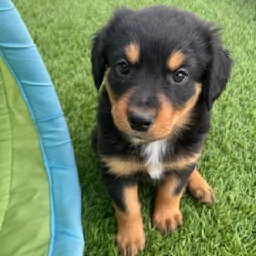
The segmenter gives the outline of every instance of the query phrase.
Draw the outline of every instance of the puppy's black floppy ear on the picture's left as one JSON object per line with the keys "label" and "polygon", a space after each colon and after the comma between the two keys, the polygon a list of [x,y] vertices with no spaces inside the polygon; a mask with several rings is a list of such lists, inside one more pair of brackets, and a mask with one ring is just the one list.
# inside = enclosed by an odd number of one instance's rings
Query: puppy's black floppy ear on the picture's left
{"label": "puppy's black floppy ear on the picture's left", "polygon": [[106,59],[104,56],[104,31],[100,31],[95,35],[92,41],[92,51],[91,51],[91,62],[92,62],[92,74],[94,79],[94,84],[97,90],[103,82]]}

